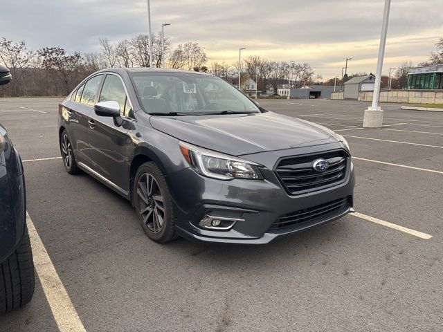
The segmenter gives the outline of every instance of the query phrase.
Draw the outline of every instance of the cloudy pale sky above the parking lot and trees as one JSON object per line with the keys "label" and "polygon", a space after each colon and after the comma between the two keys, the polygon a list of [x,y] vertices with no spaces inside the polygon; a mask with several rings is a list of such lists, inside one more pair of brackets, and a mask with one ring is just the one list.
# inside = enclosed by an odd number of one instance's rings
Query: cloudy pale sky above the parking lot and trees
{"label": "cloudy pale sky above the parking lot and trees", "polygon": [[[147,33],[146,0],[0,0],[0,37],[30,48],[99,50]],[[151,0],[152,30],[173,46],[198,42],[210,61],[243,57],[308,62],[325,79],[376,71],[384,0]],[[383,73],[428,59],[443,37],[443,0],[392,0]]]}

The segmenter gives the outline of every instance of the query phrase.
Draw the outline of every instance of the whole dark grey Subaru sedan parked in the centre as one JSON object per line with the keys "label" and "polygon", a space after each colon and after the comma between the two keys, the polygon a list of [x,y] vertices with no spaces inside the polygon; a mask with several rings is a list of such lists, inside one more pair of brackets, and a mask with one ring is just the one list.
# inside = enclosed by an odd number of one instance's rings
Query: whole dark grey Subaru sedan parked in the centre
{"label": "whole dark grey Subaru sedan parked in the centre", "polygon": [[267,243],[352,211],[345,139],[213,75],[98,71],[59,107],[66,172],[132,202],[154,241]]}

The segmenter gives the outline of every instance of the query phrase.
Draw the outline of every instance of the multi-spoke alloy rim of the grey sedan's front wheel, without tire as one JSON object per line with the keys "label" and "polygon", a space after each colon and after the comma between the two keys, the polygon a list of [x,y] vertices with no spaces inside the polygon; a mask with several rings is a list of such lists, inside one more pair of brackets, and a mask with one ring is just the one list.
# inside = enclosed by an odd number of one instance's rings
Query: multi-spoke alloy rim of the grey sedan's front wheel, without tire
{"label": "multi-spoke alloy rim of the grey sedan's front wheel, without tire", "polygon": [[138,210],[146,227],[158,234],[163,229],[165,205],[163,195],[152,174],[142,174],[137,183]]}

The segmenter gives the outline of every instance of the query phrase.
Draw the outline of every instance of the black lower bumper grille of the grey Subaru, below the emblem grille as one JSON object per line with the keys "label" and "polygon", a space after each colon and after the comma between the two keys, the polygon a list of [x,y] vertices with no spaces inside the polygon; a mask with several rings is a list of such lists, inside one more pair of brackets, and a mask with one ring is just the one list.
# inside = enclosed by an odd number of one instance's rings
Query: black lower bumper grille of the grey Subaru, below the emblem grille
{"label": "black lower bumper grille of the grey Subaru, below the emblem grille", "polygon": [[327,203],[316,205],[312,208],[298,210],[289,214],[284,214],[271,225],[269,230],[278,230],[283,227],[295,225],[296,223],[305,223],[314,219],[320,219],[321,217],[327,218],[330,214],[338,210],[345,210],[352,205],[351,196],[347,196],[343,199],[336,199]]}

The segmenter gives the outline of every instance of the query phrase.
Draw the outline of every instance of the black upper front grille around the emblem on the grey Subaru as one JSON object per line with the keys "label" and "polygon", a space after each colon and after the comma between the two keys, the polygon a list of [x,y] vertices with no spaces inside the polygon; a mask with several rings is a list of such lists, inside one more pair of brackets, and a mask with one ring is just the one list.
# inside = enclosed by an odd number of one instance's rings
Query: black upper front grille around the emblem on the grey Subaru
{"label": "black upper front grille around the emblem on the grey Subaru", "polygon": [[[313,162],[320,158],[329,163],[329,168],[325,172],[318,172],[312,168]],[[349,156],[343,150],[289,157],[280,160],[275,172],[288,192],[303,194],[343,182],[346,177],[348,159]]]}

